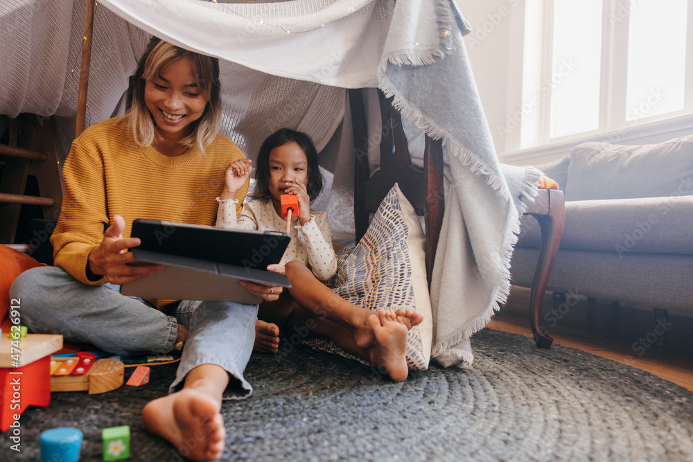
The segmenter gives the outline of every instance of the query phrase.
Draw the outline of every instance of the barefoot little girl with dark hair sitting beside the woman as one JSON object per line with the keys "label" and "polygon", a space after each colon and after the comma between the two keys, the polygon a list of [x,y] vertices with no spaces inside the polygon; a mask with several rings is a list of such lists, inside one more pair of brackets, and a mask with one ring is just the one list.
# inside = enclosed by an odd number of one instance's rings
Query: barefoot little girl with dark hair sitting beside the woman
{"label": "barefoot little girl with dark hair sitting beside the woman", "polygon": [[[260,305],[255,348],[276,352],[279,333],[306,330],[333,339],[342,349],[385,371],[393,380],[405,380],[407,331],[420,323],[421,314],[383,310],[378,315],[337,296],[320,281],[337,271],[332,233],[326,212],[310,210],[322,190],[317,151],[306,134],[283,128],[267,137],[257,159],[256,186],[236,222],[236,193],[250,175],[250,161],[229,164],[218,197],[217,226],[286,231],[280,196],[296,195],[299,213],[292,216],[291,242],[281,262],[292,284],[277,301]],[[308,269],[308,266],[310,269]]]}

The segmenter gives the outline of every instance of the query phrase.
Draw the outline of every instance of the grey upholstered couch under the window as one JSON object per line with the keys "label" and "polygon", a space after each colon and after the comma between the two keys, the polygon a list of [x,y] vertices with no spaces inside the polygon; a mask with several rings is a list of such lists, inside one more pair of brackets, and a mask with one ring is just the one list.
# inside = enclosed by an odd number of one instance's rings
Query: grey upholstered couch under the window
{"label": "grey upholstered couch under the window", "polygon": [[[538,166],[565,192],[547,290],[693,317],[693,136],[657,145],[583,143]],[[523,218],[513,283],[530,287],[540,230]]]}

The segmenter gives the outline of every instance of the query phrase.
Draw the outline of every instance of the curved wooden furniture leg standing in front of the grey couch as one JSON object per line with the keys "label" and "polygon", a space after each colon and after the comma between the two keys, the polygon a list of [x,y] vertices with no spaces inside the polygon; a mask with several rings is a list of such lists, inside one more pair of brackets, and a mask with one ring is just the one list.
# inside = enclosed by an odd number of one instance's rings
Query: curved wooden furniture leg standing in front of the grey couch
{"label": "curved wooden furniture leg standing in front of the grey couch", "polygon": [[525,215],[532,215],[536,218],[541,228],[539,258],[534,270],[532,288],[529,291],[529,325],[532,326],[532,335],[534,335],[536,346],[549,348],[554,339],[547,334],[546,329],[541,325],[541,304],[551,268],[559,251],[561,236],[563,236],[563,222],[565,221],[563,191],[540,190],[534,204],[529,204]]}

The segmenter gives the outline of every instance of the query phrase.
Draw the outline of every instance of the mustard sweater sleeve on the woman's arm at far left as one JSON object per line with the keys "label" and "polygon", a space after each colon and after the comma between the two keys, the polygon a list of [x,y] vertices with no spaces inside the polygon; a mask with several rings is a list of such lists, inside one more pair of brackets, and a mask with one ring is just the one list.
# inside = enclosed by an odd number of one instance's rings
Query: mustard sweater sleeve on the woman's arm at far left
{"label": "mustard sweater sleeve on the woman's arm at far left", "polygon": [[55,266],[82,283],[103,284],[105,276],[98,281],[87,278],[89,253],[103,240],[109,226],[103,162],[97,152],[77,139],[65,161],[62,177],[62,209],[51,237]]}

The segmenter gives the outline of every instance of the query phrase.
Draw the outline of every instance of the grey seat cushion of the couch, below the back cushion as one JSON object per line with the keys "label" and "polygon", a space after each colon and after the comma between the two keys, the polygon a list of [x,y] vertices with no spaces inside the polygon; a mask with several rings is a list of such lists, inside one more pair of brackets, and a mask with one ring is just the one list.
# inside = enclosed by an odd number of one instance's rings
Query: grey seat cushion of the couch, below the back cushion
{"label": "grey seat cushion of the couch, below the back cushion", "polygon": [[[693,255],[693,196],[565,202],[561,250]],[[533,217],[522,220],[516,247],[539,247]]]}

